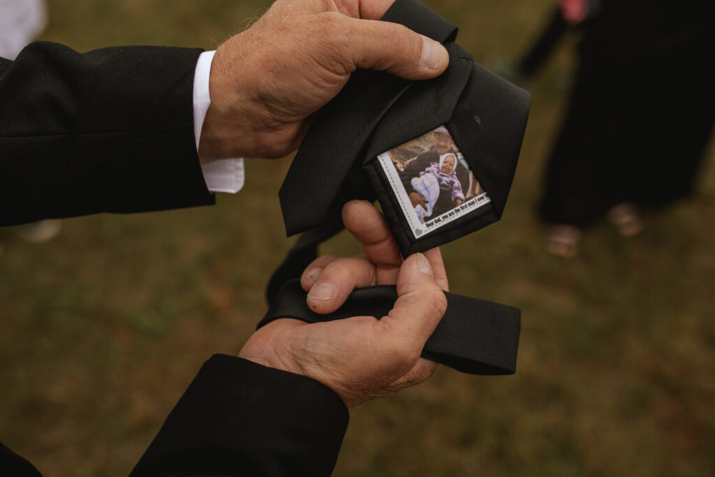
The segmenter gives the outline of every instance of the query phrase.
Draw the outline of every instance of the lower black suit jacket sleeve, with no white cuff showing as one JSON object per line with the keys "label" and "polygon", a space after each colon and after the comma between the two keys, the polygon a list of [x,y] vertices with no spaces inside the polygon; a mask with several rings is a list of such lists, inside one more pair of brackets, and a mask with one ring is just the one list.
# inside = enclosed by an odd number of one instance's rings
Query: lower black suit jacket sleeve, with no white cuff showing
{"label": "lower black suit jacket sleeve, with no white cuff showing", "polygon": [[330,476],[347,421],[317,381],[215,355],[131,477]]}

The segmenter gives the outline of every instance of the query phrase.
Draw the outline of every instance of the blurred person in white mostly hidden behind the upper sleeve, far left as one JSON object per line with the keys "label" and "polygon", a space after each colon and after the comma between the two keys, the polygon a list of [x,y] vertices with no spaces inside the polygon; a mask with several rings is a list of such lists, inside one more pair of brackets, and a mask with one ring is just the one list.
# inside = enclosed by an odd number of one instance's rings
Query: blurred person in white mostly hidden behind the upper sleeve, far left
{"label": "blurred person in white mostly hidden behind the upper sleeve, far left", "polygon": [[[44,0],[0,0],[0,57],[14,59],[47,24]],[[59,220],[41,220],[13,227],[19,237],[46,242],[61,229]],[[0,244],[0,253],[2,244]]]}

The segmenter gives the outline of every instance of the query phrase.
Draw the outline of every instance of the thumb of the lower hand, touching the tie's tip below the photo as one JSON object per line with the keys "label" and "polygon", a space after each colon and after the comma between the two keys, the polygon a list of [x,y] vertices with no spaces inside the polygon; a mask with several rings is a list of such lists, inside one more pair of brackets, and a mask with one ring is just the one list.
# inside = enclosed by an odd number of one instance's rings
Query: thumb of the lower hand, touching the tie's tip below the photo
{"label": "thumb of the lower hand, touching the tie's tip below the photo", "polygon": [[422,352],[425,342],[447,310],[447,297],[435,282],[430,261],[421,253],[410,255],[398,273],[398,300],[380,320],[393,333],[391,339]]}

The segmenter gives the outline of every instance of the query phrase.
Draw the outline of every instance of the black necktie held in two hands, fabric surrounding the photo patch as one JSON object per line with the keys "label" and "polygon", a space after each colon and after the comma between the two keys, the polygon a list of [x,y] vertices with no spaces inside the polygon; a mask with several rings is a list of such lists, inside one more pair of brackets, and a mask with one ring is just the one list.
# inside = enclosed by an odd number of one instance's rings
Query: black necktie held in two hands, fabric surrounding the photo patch
{"label": "black necktie held in two hands, fabric surrounding the photo patch", "polygon": [[[280,190],[288,235],[304,233],[269,282],[271,309],[259,326],[281,316],[309,322],[351,315],[380,318],[392,308],[394,287],[366,287],[355,290],[337,312],[315,315],[305,305],[300,285],[287,283],[315,259],[320,242],[342,230],[340,210],[349,200],[380,201],[404,256],[485,227],[499,220],[506,205],[528,117],[528,93],[473,62],[454,42],[457,27],[416,0],[396,0],[383,21],[440,41],[450,54],[450,65],[439,77],[423,82],[358,70],[320,110]],[[415,237],[376,157],[443,124],[490,202],[434,233]],[[513,373],[518,310],[447,297],[447,314],[425,346],[425,357],[466,373]]]}

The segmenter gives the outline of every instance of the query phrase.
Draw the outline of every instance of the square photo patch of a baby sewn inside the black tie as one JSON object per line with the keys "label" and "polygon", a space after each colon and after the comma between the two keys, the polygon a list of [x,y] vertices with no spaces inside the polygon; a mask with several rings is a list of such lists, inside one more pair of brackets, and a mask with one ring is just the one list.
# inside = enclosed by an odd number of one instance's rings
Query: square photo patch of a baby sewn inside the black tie
{"label": "square photo patch of a baby sewn inside the black tie", "polygon": [[444,126],[378,155],[415,238],[490,201]]}

